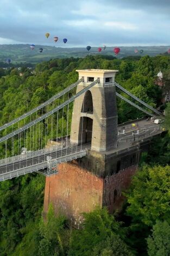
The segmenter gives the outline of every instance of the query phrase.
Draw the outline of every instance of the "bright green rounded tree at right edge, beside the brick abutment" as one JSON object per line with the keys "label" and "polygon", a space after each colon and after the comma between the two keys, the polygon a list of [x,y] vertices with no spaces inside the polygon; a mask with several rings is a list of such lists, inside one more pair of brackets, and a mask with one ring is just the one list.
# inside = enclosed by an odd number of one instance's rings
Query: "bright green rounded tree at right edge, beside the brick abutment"
{"label": "bright green rounded tree at right edge, beside the brick abutment", "polygon": [[150,227],[156,220],[170,221],[170,166],[143,167],[134,176],[131,189],[126,194],[127,214],[134,222]]}

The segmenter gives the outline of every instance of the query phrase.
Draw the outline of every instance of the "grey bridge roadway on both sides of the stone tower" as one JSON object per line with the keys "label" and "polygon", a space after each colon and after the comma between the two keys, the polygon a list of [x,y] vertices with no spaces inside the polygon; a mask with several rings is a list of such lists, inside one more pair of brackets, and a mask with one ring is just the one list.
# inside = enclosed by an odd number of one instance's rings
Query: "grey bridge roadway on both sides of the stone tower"
{"label": "grey bridge roadway on both sides of the stone tower", "polygon": [[[114,151],[118,151],[122,148],[128,148],[131,142],[140,141],[142,138],[156,135],[161,133],[160,125],[154,124],[151,121],[138,120],[133,121],[136,124],[136,127],[132,127],[132,123],[126,125],[119,125],[118,131],[118,147]],[[122,131],[125,130],[125,134],[122,134]],[[139,131],[139,134],[133,134]],[[0,181],[4,179],[10,179],[14,176],[19,176],[22,174],[40,171],[41,169],[47,169],[47,156],[51,156],[52,159],[56,159],[56,163],[70,161],[83,157],[86,155],[86,149],[90,149],[91,144],[83,144],[71,148],[69,145],[68,148],[55,149],[52,151],[44,152],[40,155],[33,155],[30,157],[21,158],[15,160],[14,162],[7,162],[0,164]],[[6,178],[5,178],[6,177]]]}

